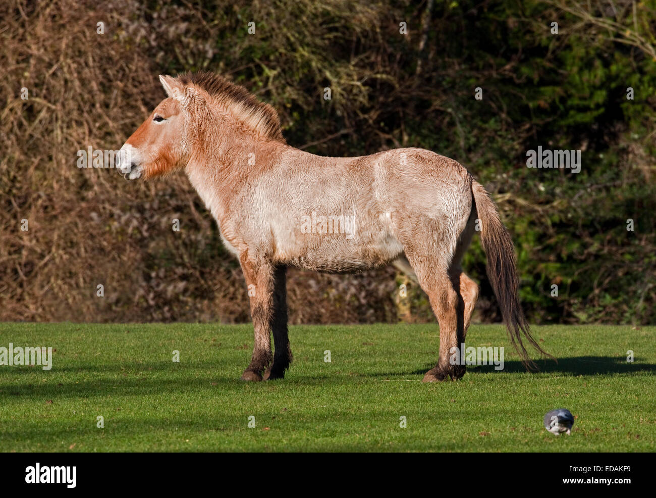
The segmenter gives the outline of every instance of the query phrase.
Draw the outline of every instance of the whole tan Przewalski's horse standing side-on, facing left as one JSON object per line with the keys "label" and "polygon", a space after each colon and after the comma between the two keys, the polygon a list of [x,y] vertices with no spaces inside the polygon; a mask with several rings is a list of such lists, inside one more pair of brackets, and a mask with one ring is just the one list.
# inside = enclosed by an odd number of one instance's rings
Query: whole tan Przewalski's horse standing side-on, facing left
{"label": "whole tan Przewalski's horse standing side-on, facing left", "polygon": [[287,145],[274,108],[243,87],[207,72],[159,79],[168,98],[125,142],[117,167],[131,180],[184,170],[215,217],[252,291],[255,347],[242,379],[282,378],[289,367],[288,266],[360,271],[404,252],[440,324],[440,359],[424,381],[462,377],[464,365],[449,359],[478,298],[461,269],[477,219],[510,340],[525,365],[522,334],[544,353],[520,307],[512,239],[460,164],[421,148],[315,156]]}

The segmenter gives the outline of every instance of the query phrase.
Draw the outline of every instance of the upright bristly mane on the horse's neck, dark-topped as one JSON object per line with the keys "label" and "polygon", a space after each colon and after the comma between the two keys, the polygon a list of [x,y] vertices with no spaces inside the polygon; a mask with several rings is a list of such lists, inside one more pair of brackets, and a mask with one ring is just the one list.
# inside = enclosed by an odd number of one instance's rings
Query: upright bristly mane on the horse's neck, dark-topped
{"label": "upright bristly mane on the horse's neck, dark-topped", "polygon": [[183,85],[192,83],[226,104],[243,124],[268,139],[284,142],[276,110],[258,99],[242,86],[231,83],[209,71],[185,73],[178,76]]}

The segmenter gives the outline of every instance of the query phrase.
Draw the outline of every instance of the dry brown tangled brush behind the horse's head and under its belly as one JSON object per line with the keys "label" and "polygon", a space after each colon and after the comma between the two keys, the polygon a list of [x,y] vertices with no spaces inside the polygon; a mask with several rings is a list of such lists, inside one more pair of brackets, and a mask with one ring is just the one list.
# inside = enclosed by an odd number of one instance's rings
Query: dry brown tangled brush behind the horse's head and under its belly
{"label": "dry brown tangled brush behind the horse's head and under its belly", "polygon": [[[0,321],[249,320],[241,269],[184,175],[127,183],[113,169],[76,166],[78,150],[120,148],[164,97],[152,47],[188,22],[142,24],[129,14],[139,9],[129,0],[0,7]],[[288,285],[291,323],[396,319],[391,269],[291,271]]]}

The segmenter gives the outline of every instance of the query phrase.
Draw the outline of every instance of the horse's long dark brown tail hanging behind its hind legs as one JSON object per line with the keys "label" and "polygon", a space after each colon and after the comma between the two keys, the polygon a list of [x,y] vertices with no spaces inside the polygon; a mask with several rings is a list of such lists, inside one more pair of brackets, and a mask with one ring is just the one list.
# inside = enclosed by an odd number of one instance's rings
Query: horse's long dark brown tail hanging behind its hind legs
{"label": "horse's long dark brown tail hanging behind its hind legs", "polygon": [[480,220],[481,242],[487,256],[487,277],[492,283],[499,307],[501,307],[501,315],[508,329],[510,342],[520,353],[524,367],[536,370],[537,365],[529,358],[523,345],[522,334],[540,353],[551,358],[554,357],[543,351],[535,342],[522,311],[518,295],[517,261],[512,238],[499,219],[497,204],[490,198],[483,186],[474,179],[472,179],[472,192]]}

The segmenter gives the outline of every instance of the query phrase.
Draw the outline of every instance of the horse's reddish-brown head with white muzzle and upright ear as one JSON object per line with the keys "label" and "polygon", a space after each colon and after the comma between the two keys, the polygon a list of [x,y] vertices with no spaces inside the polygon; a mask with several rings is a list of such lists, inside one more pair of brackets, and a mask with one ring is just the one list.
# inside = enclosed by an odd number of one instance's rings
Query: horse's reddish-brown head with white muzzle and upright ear
{"label": "horse's reddish-brown head with white muzzle and upright ear", "polygon": [[171,76],[159,80],[169,97],[159,102],[116,156],[115,166],[125,179],[157,177],[184,168],[188,160],[184,108],[195,89]]}

